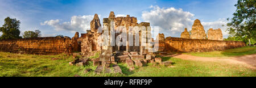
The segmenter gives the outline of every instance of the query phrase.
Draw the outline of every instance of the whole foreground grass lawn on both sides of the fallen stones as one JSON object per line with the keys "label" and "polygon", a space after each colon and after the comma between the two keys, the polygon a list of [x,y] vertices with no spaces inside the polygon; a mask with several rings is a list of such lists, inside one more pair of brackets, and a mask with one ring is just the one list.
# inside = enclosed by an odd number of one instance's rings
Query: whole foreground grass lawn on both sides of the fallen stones
{"label": "whole foreground grass lawn on both sides of the fallen stones", "polygon": [[[59,58],[52,60],[52,58]],[[72,56],[61,55],[18,55],[0,52],[0,76],[256,76],[256,71],[243,65],[221,62],[201,62],[181,60],[180,58],[162,57],[163,61],[171,60],[172,66],[165,67],[152,64],[135,68],[130,72],[126,64],[118,64],[123,74],[84,73],[87,68],[96,69],[92,62],[88,66],[70,66]]]}

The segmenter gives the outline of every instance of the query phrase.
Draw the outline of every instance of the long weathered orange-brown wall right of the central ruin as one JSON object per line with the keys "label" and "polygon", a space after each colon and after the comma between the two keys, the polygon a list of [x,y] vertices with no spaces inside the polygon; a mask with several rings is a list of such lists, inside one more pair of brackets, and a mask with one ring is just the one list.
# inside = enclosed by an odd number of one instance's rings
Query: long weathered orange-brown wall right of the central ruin
{"label": "long weathered orange-brown wall right of the central ruin", "polygon": [[179,37],[166,37],[164,51],[170,52],[206,52],[221,51],[244,47],[243,41],[220,41],[207,39],[183,39]]}

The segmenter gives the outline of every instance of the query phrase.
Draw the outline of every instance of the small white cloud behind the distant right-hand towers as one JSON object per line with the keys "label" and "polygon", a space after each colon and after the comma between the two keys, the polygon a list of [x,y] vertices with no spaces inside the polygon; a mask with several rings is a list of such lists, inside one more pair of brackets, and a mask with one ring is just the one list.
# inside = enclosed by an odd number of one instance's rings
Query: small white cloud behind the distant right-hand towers
{"label": "small white cloud behind the distant right-hand towers", "polygon": [[223,19],[218,19],[215,22],[201,22],[201,24],[204,26],[205,32],[209,30],[209,28],[213,28],[214,30],[220,28],[222,31],[223,37],[228,37],[228,32],[226,32],[226,29],[228,26],[226,26],[226,23],[228,23],[227,20]]}

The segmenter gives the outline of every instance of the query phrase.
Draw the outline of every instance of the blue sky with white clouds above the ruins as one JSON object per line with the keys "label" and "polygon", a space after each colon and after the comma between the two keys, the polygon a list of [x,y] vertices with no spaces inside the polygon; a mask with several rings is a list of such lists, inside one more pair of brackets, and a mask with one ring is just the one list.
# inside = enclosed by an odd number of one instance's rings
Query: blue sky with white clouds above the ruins
{"label": "blue sky with white clouds above the ruins", "polygon": [[[110,11],[114,11],[115,15],[129,14],[137,17],[138,22],[150,22],[152,26],[159,26],[160,32],[166,37],[180,37],[185,27],[191,30],[195,19],[201,20],[205,31],[209,28],[221,28],[226,37],[226,26],[221,25],[227,23],[226,18],[232,18],[233,12],[236,11],[234,7],[236,2],[236,0],[0,0],[0,27],[3,25],[3,20],[10,16],[20,20],[21,32],[40,30],[43,36],[61,34],[72,37],[75,31],[85,33],[94,14],[98,14],[102,22]],[[152,15],[154,12],[157,12],[157,15]]]}

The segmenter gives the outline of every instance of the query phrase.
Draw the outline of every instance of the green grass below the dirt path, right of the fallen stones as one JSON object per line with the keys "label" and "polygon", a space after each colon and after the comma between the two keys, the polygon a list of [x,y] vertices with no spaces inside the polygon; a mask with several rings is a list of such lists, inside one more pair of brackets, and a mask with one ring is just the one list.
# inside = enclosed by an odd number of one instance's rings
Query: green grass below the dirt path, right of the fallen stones
{"label": "green grass below the dirt path, right of the fallen stones", "polygon": [[256,76],[253,69],[243,65],[225,64],[221,62],[189,61],[180,58],[162,57],[165,61],[172,61],[172,67],[144,66],[130,76],[153,77],[248,77]]}

